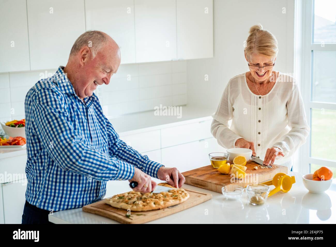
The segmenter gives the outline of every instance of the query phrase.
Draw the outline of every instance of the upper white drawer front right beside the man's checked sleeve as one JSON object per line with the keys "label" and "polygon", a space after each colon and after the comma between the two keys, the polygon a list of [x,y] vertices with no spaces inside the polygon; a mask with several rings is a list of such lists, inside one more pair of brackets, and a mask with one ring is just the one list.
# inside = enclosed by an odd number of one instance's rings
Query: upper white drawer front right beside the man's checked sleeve
{"label": "upper white drawer front right beside the man's checked sleeve", "polygon": [[136,151],[143,153],[161,148],[160,130],[148,131],[132,135],[120,135],[120,139],[125,141]]}

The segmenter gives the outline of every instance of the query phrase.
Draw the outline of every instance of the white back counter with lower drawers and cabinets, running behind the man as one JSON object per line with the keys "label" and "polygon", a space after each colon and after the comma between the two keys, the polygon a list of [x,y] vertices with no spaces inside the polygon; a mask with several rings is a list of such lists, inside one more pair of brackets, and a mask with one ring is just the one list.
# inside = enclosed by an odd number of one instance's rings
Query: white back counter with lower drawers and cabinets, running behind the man
{"label": "white back counter with lower drawers and cabinets, running behind the man", "polygon": [[[182,106],[180,116],[147,111],[109,120],[128,145],[151,160],[183,172],[207,164],[209,153],[224,151],[210,133],[212,112],[213,109]],[[26,148],[0,148],[0,224],[21,223],[26,201],[26,162]],[[114,195],[121,182],[108,181],[106,194]]]}

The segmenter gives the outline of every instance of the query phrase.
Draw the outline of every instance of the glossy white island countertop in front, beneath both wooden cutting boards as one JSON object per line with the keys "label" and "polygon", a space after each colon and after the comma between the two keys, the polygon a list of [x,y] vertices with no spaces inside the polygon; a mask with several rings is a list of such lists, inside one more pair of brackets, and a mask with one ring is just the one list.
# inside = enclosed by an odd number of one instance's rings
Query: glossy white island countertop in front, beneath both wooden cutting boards
{"label": "glossy white island countertop in front, beneath both wooden cutting boards", "polygon": [[[269,197],[264,205],[253,206],[247,195],[241,199],[226,200],[222,194],[185,184],[183,188],[212,194],[212,199],[192,208],[148,223],[335,223],[336,181],[326,193],[312,194],[303,186],[302,174],[295,175],[296,183],[288,193],[279,192]],[[129,191],[128,181],[119,181],[117,193]],[[273,189],[274,186],[271,186]],[[117,194],[116,193],[116,194]],[[113,195],[109,195],[113,196]],[[206,214],[208,212],[208,214]],[[49,215],[53,223],[73,224],[116,224],[117,221],[86,213],[82,208],[69,209]]]}

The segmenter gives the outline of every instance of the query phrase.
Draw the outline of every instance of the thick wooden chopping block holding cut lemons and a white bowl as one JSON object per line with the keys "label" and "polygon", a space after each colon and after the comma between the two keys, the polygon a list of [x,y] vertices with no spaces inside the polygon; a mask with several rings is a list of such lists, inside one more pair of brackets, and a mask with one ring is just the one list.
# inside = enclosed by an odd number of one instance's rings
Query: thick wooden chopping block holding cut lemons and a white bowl
{"label": "thick wooden chopping block holding cut lemons and a white bowl", "polygon": [[185,183],[192,186],[196,186],[202,189],[215,191],[222,193],[222,187],[228,184],[237,184],[242,187],[246,187],[249,184],[262,183],[264,181],[273,179],[274,175],[283,172],[288,172],[287,166],[273,165],[273,168],[259,168],[255,170],[253,167],[258,166],[259,164],[249,160],[246,163],[246,173],[249,175],[249,179],[239,180],[233,179],[230,174],[221,174],[217,171],[216,168],[213,168],[212,165],[200,167],[194,170],[182,172],[185,177]]}

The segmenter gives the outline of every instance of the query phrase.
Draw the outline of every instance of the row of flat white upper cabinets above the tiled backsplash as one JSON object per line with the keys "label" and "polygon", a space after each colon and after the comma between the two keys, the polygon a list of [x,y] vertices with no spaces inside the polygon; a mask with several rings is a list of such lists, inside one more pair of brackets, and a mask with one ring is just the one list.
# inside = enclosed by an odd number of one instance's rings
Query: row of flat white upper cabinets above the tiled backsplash
{"label": "row of flat white upper cabinets above the tiled backsplash", "polygon": [[0,0],[0,73],[67,64],[86,30],[110,35],[121,63],[213,57],[213,0]]}

